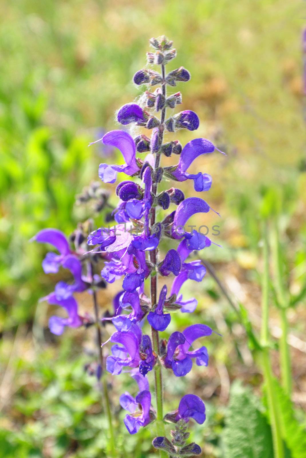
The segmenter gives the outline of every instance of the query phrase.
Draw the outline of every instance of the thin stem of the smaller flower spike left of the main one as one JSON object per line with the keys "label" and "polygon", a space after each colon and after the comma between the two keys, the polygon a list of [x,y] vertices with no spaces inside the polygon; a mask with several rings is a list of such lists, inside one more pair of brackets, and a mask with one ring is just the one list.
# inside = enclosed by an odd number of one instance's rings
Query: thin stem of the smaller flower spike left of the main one
{"label": "thin stem of the smaller flower spike left of the main one", "polygon": [[[90,270],[92,272],[92,264],[90,265]],[[98,310],[98,300],[97,300],[97,291],[93,289],[93,309],[94,309],[94,316],[95,316],[95,326],[96,326],[96,339],[97,339],[97,349],[98,349],[98,359],[99,364],[101,365],[102,369],[102,387],[103,387],[103,394],[104,394],[104,410],[107,416],[107,420],[109,423],[109,446],[111,457],[116,457],[116,448],[115,448],[115,435],[114,435],[114,428],[113,428],[113,420],[112,414],[110,410],[110,402],[109,402],[109,393],[107,382],[104,374],[104,364],[103,364],[103,353],[102,353],[102,338],[101,338],[101,328],[100,328],[100,321],[99,321],[99,310]]]}

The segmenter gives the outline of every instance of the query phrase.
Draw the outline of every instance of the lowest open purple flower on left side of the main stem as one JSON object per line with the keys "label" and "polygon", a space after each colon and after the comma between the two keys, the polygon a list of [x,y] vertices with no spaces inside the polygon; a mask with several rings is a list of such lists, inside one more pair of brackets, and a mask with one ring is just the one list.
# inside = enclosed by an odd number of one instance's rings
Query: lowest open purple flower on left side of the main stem
{"label": "lowest open purple flower on left side of the main stem", "polygon": [[[136,410],[136,412],[133,411],[131,415],[127,414],[124,419],[124,424],[130,434],[136,434],[140,426],[146,426],[150,423],[151,393],[148,390],[138,393],[135,398],[135,404],[140,404],[141,409],[139,411]],[[133,407],[131,404],[131,409]]]}

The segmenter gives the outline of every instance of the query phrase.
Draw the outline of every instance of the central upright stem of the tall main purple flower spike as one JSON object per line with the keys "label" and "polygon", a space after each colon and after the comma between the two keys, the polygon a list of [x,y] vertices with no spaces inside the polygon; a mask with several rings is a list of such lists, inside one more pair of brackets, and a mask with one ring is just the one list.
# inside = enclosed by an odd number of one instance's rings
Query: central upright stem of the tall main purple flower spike
{"label": "central upright stem of the tall main purple flower spike", "polygon": [[[162,76],[163,76],[163,95],[166,96],[166,83],[165,79],[165,68],[164,65],[162,67]],[[161,142],[163,140],[163,126],[165,120],[165,107],[162,109],[161,114]],[[159,167],[160,162],[160,153],[156,153],[155,159],[155,171]],[[157,194],[157,185],[155,179],[155,173],[153,176],[153,185],[152,185],[152,192],[154,196]],[[155,207],[151,208],[151,219],[150,219],[150,227],[155,224]],[[156,250],[150,251],[150,261],[151,263],[156,266]],[[155,305],[157,302],[157,274],[151,276],[151,305]],[[153,327],[151,327],[152,332],[152,341],[153,341],[153,350],[159,356],[160,347],[159,347],[159,335],[158,331],[156,331]],[[162,379],[162,367],[160,362],[158,361],[157,364],[154,366],[154,375],[155,375],[155,395],[156,395],[156,407],[157,407],[157,420],[156,420],[156,433],[158,436],[164,436],[165,429],[164,429],[164,414],[163,414],[163,379]],[[167,458],[167,453],[164,450],[159,450],[159,455],[161,458]]]}

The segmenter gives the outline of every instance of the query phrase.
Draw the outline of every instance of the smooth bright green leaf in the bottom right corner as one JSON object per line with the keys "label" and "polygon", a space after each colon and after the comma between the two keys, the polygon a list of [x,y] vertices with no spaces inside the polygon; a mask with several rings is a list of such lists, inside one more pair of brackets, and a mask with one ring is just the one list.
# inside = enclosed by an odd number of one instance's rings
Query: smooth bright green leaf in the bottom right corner
{"label": "smooth bright green leaf in the bottom right corner", "polygon": [[296,420],[290,398],[284,393],[279,381],[273,379],[274,390],[279,403],[279,421],[282,435],[292,458],[306,458],[306,431]]}

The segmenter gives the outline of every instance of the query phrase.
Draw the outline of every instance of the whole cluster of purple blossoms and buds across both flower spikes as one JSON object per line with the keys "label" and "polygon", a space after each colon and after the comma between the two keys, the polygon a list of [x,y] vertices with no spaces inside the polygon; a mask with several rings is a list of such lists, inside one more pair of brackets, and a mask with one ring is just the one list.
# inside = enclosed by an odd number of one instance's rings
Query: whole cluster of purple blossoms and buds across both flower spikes
{"label": "whole cluster of purple blossoms and buds across both flower spikes", "polygon": [[[76,234],[74,251],[71,251],[64,234],[56,229],[42,230],[35,236],[35,240],[51,243],[59,252],[47,254],[43,262],[46,273],[56,273],[62,266],[69,269],[74,277],[73,284],[60,281],[55,291],[44,298],[51,304],[64,307],[68,313],[68,318],[50,318],[49,327],[55,334],[61,334],[65,326],[86,324],[86,318],[78,314],[73,296],[75,292],[88,289],[94,294],[97,287],[122,281],[121,290],[114,299],[113,314],[99,316],[96,321],[97,324],[111,321],[115,327],[115,332],[102,345],[108,342],[113,344],[111,354],[106,359],[107,371],[119,375],[128,370],[137,382],[138,392],[135,397],[127,392],[120,396],[120,405],[128,412],[124,420],[126,429],[130,434],[135,434],[141,426],[148,425],[156,418],[159,424],[164,421],[173,422],[175,430],[171,431],[172,441],[164,436],[162,428],[160,436],[153,440],[153,445],[171,457],[183,457],[201,453],[197,444],[185,445],[189,436],[186,428],[190,419],[199,424],[204,422],[205,406],[194,394],[186,394],[180,400],[178,409],[164,416],[162,376],[167,370],[177,377],[186,376],[194,361],[198,366],[207,366],[206,347],[199,344],[194,348],[193,345],[195,341],[210,336],[213,330],[202,323],[194,324],[186,327],[183,332],[172,333],[168,342],[159,340],[159,332],[169,326],[171,312],[192,313],[197,307],[196,298],[183,297],[180,291],[186,281],[202,281],[205,267],[201,261],[188,261],[188,257],[194,251],[209,247],[212,242],[200,231],[186,231],[185,225],[194,214],[208,213],[211,207],[201,197],[185,198],[184,193],[176,187],[158,193],[158,183],[164,178],[176,183],[192,180],[195,191],[208,191],[212,184],[211,176],[202,172],[192,174],[188,169],[199,156],[219,150],[205,138],[191,140],[184,147],[177,140],[164,142],[167,131],[196,130],[199,118],[191,110],[166,117],[166,109],[173,110],[182,103],[181,93],[167,95],[166,87],[175,87],[177,82],[187,82],[191,75],[184,67],[166,74],[166,64],[176,57],[171,41],[165,37],[152,38],[150,44],[154,52],[147,54],[148,63],[160,65],[161,73],[151,68],[137,71],[133,77],[134,83],[147,85],[148,90],[139,98],[138,104],[122,106],[116,116],[121,125],[139,126],[140,132],[147,129],[152,132],[151,136],[139,133],[132,137],[126,129],[114,130],[93,142],[117,148],[123,156],[124,164],[99,165],[98,175],[104,183],[115,183],[118,173],[130,177],[116,186],[119,202],[115,208],[112,207],[111,213],[116,224],[88,233],[87,248],[84,248],[84,237],[79,240],[80,235]],[[151,87],[157,85],[161,87],[151,92]],[[139,157],[138,154],[142,153],[146,154]],[[178,163],[162,167],[162,156],[169,157],[172,154],[179,156]],[[97,189],[95,183],[78,200],[87,202],[91,198],[98,199],[100,208],[108,195],[97,192]],[[156,219],[157,213],[162,215],[160,221]],[[173,242],[173,248],[164,256],[158,251],[163,238]],[[100,275],[93,274],[95,256],[104,260]],[[85,263],[86,276],[82,274]],[[170,291],[162,280],[169,276],[174,277]],[[159,294],[158,278],[161,280]],[[152,339],[142,331],[148,326],[146,322],[151,327]],[[156,410],[152,406],[148,381],[150,371],[154,371]]]}

